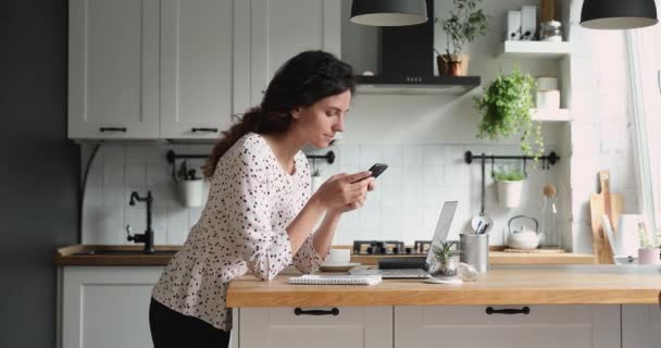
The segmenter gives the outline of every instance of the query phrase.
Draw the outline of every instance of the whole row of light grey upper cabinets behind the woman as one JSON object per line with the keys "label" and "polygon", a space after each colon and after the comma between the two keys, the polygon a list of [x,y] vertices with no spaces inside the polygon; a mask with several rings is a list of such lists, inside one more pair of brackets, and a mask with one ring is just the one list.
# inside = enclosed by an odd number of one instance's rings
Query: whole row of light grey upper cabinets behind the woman
{"label": "whole row of light grey upper cabinets behind the woman", "polygon": [[340,55],[336,0],[70,0],[68,137],[214,139],[303,50]]}

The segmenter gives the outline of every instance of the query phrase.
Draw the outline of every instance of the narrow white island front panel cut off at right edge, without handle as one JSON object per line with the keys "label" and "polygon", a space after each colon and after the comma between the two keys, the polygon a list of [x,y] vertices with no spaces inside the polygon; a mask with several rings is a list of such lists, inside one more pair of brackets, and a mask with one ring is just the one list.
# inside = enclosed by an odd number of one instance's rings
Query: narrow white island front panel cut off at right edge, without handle
{"label": "narrow white island front panel cut off at right edge, without handle", "polygon": [[658,304],[622,306],[622,348],[661,346],[661,307]]}

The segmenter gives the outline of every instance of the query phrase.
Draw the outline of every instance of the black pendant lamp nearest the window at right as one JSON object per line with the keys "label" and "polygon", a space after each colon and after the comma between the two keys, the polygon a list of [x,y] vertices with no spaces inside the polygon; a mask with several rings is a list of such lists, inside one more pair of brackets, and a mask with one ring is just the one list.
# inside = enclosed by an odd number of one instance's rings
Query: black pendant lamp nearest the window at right
{"label": "black pendant lamp nearest the window at right", "polygon": [[654,0],[585,0],[581,25],[590,29],[635,29],[654,25]]}

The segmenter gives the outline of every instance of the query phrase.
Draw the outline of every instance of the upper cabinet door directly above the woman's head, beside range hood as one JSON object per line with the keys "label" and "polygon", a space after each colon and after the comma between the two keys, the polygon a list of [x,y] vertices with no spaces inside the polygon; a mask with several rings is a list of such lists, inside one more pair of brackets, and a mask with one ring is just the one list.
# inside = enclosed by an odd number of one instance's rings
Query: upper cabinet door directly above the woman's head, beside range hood
{"label": "upper cabinet door directly above the woman's head, beside range hood", "polygon": [[341,1],[251,0],[251,104],[275,71],[305,50],[340,57]]}

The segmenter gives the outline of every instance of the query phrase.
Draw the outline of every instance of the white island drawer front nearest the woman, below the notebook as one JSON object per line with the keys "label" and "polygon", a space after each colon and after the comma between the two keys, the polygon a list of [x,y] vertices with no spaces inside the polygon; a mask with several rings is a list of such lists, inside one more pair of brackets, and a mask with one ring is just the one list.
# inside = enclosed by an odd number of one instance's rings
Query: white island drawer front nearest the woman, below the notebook
{"label": "white island drawer front nearest the woman, below the notebook", "polygon": [[358,348],[392,347],[391,307],[345,307],[337,315],[304,311],[330,308],[241,308],[239,343],[242,348]]}

